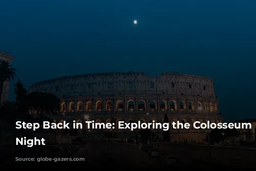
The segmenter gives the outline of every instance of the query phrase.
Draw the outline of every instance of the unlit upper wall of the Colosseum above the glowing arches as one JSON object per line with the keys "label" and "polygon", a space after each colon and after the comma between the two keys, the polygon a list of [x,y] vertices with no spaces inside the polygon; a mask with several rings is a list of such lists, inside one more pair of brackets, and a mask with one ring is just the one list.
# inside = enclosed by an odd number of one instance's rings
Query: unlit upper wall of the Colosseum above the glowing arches
{"label": "unlit upper wall of the Colosseum above the glowing arches", "polygon": [[178,73],[146,76],[144,73],[87,74],[41,81],[30,87],[59,98],[98,95],[162,94],[216,98],[212,79]]}

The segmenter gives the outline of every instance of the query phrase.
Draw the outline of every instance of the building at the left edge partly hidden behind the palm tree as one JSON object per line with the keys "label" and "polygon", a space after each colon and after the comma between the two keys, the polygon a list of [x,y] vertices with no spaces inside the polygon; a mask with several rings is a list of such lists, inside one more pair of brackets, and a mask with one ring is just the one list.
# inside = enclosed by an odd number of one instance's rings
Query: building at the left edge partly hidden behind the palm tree
{"label": "building at the left edge partly hidden behind the palm tree", "polygon": [[[11,63],[12,59],[13,58],[12,58],[11,54],[9,54],[7,52],[0,51],[0,61],[5,60],[5,61],[8,61]],[[1,98],[0,103],[7,101],[8,94],[9,94],[9,87],[10,87],[10,81],[4,82],[3,92],[1,94],[2,98]]]}

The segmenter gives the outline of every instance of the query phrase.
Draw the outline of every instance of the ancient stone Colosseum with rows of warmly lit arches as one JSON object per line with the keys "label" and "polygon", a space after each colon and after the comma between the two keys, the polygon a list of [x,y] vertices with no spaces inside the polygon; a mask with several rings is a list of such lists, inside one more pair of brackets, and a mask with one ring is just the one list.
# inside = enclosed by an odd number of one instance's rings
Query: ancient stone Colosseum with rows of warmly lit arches
{"label": "ancient stone Colosseum with rows of warmly lit arches", "polygon": [[[84,123],[95,122],[221,122],[218,99],[212,79],[179,73],[146,76],[142,72],[98,73],[65,76],[37,82],[30,92],[47,92],[60,100],[59,115],[51,115],[55,122],[71,119]],[[35,111],[36,113],[36,111]],[[172,129],[172,141],[203,141],[207,130]],[[89,130],[102,134],[105,130]],[[131,130],[111,130],[117,136],[134,134]],[[153,130],[161,136],[162,130]]]}

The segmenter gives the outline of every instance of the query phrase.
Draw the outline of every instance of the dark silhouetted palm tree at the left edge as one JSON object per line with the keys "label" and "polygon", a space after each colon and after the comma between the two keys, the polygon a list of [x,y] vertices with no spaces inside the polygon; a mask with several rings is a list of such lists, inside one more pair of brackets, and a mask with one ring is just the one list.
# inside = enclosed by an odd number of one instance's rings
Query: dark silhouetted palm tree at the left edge
{"label": "dark silhouetted palm tree at the left edge", "polygon": [[0,62],[0,103],[2,101],[4,82],[13,79],[15,74],[16,70],[11,67],[8,61],[3,60]]}

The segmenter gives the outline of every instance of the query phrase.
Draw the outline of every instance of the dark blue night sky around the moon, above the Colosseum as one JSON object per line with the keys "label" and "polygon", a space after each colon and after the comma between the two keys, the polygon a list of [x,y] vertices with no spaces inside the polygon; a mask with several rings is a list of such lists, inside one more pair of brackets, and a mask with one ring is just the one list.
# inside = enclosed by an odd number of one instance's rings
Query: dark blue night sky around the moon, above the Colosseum
{"label": "dark blue night sky around the moon, above the Colosseum", "polygon": [[0,50],[14,56],[12,84],[26,87],[88,72],[211,77],[232,121],[255,118],[255,22],[253,0],[8,0],[0,2]]}

